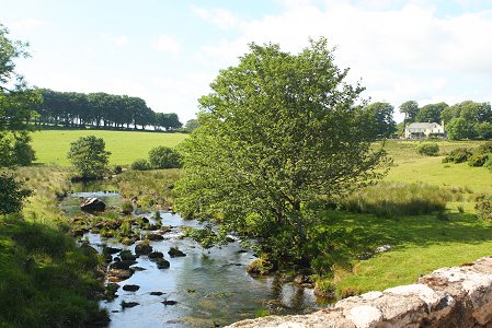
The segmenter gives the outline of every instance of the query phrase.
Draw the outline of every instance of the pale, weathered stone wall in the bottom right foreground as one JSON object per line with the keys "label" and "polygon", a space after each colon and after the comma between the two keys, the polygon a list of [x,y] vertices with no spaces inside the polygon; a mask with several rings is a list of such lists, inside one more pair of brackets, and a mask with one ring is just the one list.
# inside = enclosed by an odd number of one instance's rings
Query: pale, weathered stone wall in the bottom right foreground
{"label": "pale, weathered stone wall in the bottom right foreground", "polygon": [[310,315],[268,316],[228,327],[492,327],[492,257],[438,269],[414,284],[348,297]]}

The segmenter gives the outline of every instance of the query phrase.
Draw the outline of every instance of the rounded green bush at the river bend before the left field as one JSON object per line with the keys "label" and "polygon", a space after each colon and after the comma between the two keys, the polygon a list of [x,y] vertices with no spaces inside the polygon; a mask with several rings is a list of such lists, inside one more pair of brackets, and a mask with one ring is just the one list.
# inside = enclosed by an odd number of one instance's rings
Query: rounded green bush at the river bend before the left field
{"label": "rounded green bush at the river bend before the left field", "polygon": [[98,178],[104,175],[110,154],[102,138],[89,136],[72,142],[67,156],[82,178]]}

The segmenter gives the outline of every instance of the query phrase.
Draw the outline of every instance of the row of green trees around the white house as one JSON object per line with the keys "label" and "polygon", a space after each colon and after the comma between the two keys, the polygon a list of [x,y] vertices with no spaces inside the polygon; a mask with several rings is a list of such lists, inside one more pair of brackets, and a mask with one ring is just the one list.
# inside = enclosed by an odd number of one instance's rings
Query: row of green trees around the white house
{"label": "row of green trees around the white house", "polygon": [[412,122],[438,122],[445,125],[451,140],[492,139],[490,103],[465,101],[449,106],[442,102],[419,107],[415,101],[408,101],[399,106],[400,113],[404,114],[400,125],[396,124],[394,107],[389,103],[371,103],[365,109],[369,129],[377,138],[403,136],[405,125]]}

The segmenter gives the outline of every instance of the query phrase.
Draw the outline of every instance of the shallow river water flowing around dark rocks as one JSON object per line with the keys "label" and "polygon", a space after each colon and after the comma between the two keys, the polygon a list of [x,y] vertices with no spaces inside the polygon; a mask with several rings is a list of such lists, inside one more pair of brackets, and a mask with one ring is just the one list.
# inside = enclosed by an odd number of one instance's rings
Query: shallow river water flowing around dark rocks
{"label": "shallow river water flowing around dark rocks", "polygon": [[[60,207],[70,215],[76,215],[79,197],[99,197],[108,206],[119,201],[118,194],[114,192],[76,192],[67,197]],[[150,219],[152,214],[142,216]],[[251,251],[244,251],[239,242],[203,250],[197,243],[180,238],[181,226],[199,227],[199,222],[167,212],[161,212],[161,218],[162,225],[171,225],[172,231],[164,234],[164,241],[151,242],[151,245],[155,250],[164,254],[171,267],[158,269],[147,256],[137,258],[135,266],[146,270],[136,271],[118,284],[137,284],[140,289],[137,292],[119,289],[118,297],[102,302],[111,314],[110,327],[211,327],[254,318],[259,309],[299,314],[318,308],[310,289],[282,285],[275,278],[251,278],[245,268],[255,257]],[[87,238],[99,250],[106,244],[135,253],[135,245],[123,246],[112,238],[101,238],[92,233],[87,234]],[[171,246],[178,246],[187,256],[171,258],[168,255]],[[153,296],[150,292],[164,294]],[[165,306],[161,303],[164,300],[176,301],[178,304]],[[138,302],[139,305],[122,308],[122,301]]]}

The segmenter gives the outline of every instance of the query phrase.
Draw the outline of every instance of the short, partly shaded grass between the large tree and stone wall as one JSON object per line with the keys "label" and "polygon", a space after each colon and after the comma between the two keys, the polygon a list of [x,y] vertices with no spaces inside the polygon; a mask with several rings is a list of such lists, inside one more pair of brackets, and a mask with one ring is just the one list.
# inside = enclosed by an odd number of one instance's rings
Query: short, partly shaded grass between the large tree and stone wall
{"label": "short, partly shaded grass between the large tree and stone wall", "polygon": [[436,215],[386,219],[327,213],[327,216],[336,216],[336,225],[346,229],[348,238],[364,236],[374,246],[392,247],[390,251],[356,261],[352,270],[335,270],[334,282],[341,293],[347,289],[364,293],[414,283],[435,269],[492,255],[492,223],[473,214],[450,213],[444,220]]}

